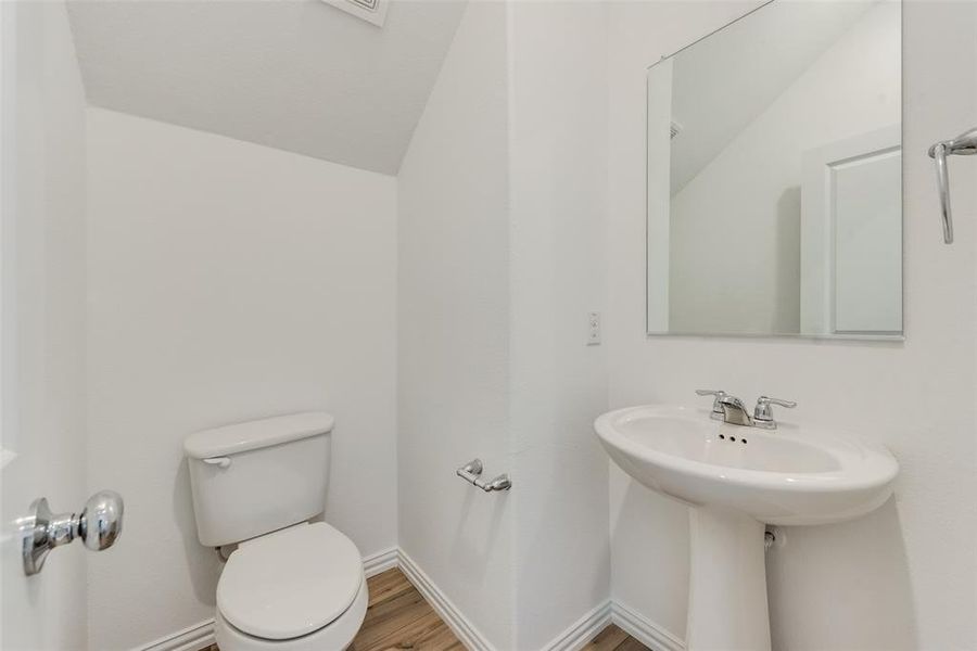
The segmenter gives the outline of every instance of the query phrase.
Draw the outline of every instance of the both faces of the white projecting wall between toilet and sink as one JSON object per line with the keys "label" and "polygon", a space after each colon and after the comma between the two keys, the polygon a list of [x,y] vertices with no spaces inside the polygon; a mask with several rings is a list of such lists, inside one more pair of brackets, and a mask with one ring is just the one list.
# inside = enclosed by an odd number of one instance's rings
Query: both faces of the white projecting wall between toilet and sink
{"label": "both faces of the white projecting wall between toilet and sink", "polygon": [[[609,597],[606,18],[472,3],[399,176],[401,546],[499,650]],[[453,476],[477,455],[511,494]]]}

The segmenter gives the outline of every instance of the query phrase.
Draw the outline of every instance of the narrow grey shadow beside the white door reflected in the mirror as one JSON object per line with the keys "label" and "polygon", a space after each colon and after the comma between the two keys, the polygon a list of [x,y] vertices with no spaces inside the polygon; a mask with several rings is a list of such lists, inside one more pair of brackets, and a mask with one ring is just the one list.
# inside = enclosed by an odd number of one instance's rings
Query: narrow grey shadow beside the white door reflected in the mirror
{"label": "narrow grey shadow beside the white door reflected in the mirror", "polygon": [[774,268],[776,279],[774,322],[772,332],[800,332],[800,187],[784,190],[777,200],[777,232],[774,235]]}

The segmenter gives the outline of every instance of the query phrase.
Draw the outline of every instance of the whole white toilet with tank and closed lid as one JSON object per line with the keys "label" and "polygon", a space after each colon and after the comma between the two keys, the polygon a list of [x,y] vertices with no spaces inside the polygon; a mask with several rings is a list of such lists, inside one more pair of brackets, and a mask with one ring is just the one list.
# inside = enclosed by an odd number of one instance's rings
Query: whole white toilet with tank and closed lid
{"label": "whole white toilet with tank and closed lid", "polygon": [[356,545],[325,522],[333,418],[196,432],[183,450],[201,545],[237,544],[217,583],[220,651],[340,651],[366,615]]}

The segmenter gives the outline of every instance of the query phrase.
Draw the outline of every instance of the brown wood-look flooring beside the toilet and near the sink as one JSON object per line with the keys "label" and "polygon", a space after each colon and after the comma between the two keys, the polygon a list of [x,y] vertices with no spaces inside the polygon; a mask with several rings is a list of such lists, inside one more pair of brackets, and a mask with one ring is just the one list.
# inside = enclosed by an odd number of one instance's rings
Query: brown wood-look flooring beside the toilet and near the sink
{"label": "brown wood-look flooring beside the toilet and near the sink", "polygon": [[[465,651],[399,570],[368,579],[370,604],[350,651]],[[219,651],[216,644],[203,651]],[[617,626],[608,626],[583,651],[650,651]]]}

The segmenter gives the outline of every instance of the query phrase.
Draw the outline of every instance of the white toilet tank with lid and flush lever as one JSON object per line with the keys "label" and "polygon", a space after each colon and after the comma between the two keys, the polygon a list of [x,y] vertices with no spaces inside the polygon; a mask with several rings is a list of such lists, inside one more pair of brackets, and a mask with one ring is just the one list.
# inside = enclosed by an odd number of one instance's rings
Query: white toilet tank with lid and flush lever
{"label": "white toilet tank with lid and flush lever", "polygon": [[202,545],[240,542],[326,508],[333,418],[293,413],[187,437],[190,488]]}

